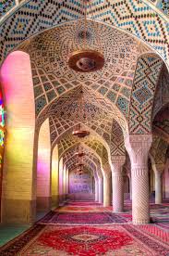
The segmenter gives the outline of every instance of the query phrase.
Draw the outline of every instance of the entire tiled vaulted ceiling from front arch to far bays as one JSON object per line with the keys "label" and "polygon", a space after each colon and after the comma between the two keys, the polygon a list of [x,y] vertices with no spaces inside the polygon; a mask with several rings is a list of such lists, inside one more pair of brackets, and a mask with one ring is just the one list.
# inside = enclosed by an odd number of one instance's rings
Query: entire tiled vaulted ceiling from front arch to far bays
{"label": "entire tiled vaulted ceiling from front arch to far bays", "polygon": [[[105,65],[85,74],[67,65],[83,42],[79,1],[16,2],[4,1],[0,13],[0,62],[14,49],[30,55],[36,125],[49,118],[52,148],[68,168],[78,147],[86,168],[102,173],[112,156],[126,155],[127,134],[161,129],[166,141],[169,124],[158,118],[169,103],[166,1],[91,1],[87,41],[95,49],[100,34]],[[91,132],[82,141],[72,135],[79,125]]]}

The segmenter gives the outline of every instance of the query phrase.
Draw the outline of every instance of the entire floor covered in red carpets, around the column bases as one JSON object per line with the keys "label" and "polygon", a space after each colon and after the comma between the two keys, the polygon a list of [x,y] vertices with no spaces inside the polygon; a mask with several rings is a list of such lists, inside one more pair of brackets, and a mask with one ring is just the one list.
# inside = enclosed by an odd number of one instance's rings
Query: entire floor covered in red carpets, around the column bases
{"label": "entire floor covered in red carpets, around the column bases", "polygon": [[0,255],[169,255],[169,202],[150,207],[151,224],[134,225],[129,200],[118,214],[95,201],[69,201],[1,247]]}

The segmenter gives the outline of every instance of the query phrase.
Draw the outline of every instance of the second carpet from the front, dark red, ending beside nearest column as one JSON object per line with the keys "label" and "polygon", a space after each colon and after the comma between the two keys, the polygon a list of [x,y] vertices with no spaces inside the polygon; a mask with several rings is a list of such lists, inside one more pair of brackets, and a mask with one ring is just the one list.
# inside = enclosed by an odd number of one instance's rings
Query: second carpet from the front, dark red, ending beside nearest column
{"label": "second carpet from the front, dark red, ending beside nearest column", "polygon": [[[126,214],[124,214],[126,215]],[[109,211],[103,212],[50,212],[38,224],[123,224],[130,218]]]}

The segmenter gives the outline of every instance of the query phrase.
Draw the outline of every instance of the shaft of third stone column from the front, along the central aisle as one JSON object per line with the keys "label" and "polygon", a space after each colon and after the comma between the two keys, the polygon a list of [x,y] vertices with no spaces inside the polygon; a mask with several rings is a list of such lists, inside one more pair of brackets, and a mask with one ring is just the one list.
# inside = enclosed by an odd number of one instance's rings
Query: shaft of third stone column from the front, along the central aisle
{"label": "shaft of third stone column from the front, along the central aisle", "polygon": [[111,205],[111,173],[103,173],[103,206]]}

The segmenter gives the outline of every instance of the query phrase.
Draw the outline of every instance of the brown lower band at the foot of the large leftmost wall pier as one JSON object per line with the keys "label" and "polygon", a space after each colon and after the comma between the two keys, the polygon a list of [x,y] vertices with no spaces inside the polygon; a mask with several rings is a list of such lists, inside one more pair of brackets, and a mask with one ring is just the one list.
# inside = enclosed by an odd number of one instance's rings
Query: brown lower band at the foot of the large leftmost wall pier
{"label": "brown lower band at the foot of the large leftmost wall pier", "polygon": [[33,224],[36,220],[36,200],[4,199],[2,222]]}

